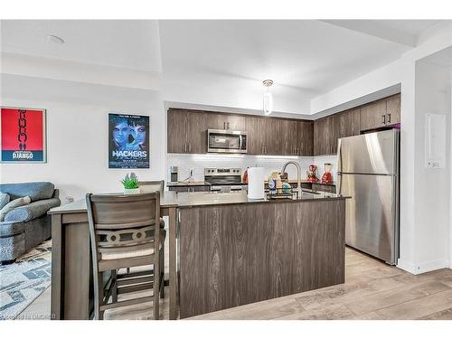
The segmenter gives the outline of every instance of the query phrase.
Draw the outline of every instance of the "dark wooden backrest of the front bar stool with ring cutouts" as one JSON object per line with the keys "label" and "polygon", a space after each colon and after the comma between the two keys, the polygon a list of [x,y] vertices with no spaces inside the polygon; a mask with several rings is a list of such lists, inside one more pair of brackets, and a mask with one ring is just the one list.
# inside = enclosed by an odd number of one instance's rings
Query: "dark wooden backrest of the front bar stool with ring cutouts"
{"label": "dark wooden backrest of the front bar stool with ring cutouts", "polygon": [[121,251],[158,251],[160,192],[87,194],[89,236],[93,261]]}

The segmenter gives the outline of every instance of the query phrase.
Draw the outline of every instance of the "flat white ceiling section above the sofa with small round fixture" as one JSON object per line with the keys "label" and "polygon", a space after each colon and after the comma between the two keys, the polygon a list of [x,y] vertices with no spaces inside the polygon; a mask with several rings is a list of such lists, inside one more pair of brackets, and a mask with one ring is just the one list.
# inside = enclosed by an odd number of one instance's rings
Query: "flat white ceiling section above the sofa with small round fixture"
{"label": "flat white ceiling section above the sofa with small round fixture", "polygon": [[[2,51],[161,71],[158,24],[152,20],[3,20]],[[64,44],[49,42],[57,35]]]}

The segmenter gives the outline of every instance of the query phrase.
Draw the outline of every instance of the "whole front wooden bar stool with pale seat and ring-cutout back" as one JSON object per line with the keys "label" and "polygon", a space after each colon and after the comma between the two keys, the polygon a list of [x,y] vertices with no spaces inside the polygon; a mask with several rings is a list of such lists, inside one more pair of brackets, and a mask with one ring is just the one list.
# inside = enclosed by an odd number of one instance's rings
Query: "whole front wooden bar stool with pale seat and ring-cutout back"
{"label": "whole front wooden bar stool with pale seat and ring-cutout back", "polygon": [[[87,194],[94,280],[94,318],[110,308],[153,302],[159,319],[164,288],[165,230],[160,228],[160,193]],[[152,270],[119,274],[120,268],[153,265]],[[104,278],[108,278],[104,283]],[[118,295],[150,290],[151,297],[118,301]],[[160,294],[159,294],[160,292]],[[109,298],[111,297],[111,302]]]}

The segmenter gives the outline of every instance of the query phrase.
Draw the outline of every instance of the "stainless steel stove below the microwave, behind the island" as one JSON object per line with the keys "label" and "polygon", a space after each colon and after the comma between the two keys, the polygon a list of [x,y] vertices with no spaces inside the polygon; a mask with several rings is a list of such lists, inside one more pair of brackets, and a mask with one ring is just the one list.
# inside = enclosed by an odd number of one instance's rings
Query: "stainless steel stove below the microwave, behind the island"
{"label": "stainless steel stove below the microwave, behind the island", "polygon": [[211,184],[211,191],[230,192],[246,189],[241,185],[241,168],[204,168],[204,182]]}

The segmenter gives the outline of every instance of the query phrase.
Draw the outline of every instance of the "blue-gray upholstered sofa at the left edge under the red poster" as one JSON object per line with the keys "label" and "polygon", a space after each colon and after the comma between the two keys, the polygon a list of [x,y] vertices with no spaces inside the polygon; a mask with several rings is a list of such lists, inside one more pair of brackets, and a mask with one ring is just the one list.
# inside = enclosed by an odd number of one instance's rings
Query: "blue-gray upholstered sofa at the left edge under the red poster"
{"label": "blue-gray upholstered sofa at the left edge under the red poster", "polygon": [[59,191],[52,183],[0,184],[0,192],[10,199],[29,196],[31,203],[17,207],[0,221],[0,261],[10,263],[43,240],[51,237],[51,217],[47,212],[60,206]]}

